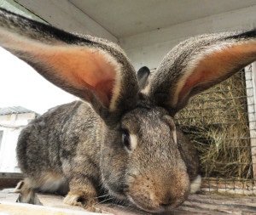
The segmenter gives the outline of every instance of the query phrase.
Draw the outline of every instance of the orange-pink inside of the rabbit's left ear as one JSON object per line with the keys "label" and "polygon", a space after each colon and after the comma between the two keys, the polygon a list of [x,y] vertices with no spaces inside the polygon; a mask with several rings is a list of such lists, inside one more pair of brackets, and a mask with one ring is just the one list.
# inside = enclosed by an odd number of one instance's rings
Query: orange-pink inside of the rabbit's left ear
{"label": "orange-pink inside of the rabbit's left ear", "polygon": [[109,107],[118,65],[108,54],[94,48],[57,47],[37,50],[35,55],[73,88],[90,89]]}

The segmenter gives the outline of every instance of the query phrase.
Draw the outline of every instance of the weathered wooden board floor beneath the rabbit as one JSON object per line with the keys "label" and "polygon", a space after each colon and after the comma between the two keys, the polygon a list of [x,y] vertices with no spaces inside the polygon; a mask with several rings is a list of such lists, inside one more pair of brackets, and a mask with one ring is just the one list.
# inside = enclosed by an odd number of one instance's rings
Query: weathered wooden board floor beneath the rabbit
{"label": "weathered wooden board floor beneath the rabbit", "polygon": [[[0,190],[0,214],[12,215],[39,215],[39,214],[96,214],[86,212],[82,207],[71,207],[62,203],[63,197],[58,195],[38,194],[39,200],[44,206],[32,206],[28,204],[15,203],[18,194],[13,189]],[[70,210],[71,209],[71,210]],[[146,215],[147,212],[140,212],[134,208],[127,208],[113,205],[96,206],[97,213],[118,214],[118,215]],[[253,196],[224,196],[224,195],[191,195],[183,206],[173,212],[162,214],[256,214],[256,197]]]}

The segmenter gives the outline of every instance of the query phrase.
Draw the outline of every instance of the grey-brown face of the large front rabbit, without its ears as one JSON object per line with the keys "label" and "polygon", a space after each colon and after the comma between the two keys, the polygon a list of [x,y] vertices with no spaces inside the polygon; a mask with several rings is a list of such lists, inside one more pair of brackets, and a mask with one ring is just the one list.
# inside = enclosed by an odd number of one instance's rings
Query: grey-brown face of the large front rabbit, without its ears
{"label": "grey-brown face of the large front rabbit, without its ears", "polygon": [[169,210],[185,201],[189,176],[166,110],[137,107],[122,117],[116,133],[109,133],[101,167],[103,184],[112,195],[128,198],[148,212]]}

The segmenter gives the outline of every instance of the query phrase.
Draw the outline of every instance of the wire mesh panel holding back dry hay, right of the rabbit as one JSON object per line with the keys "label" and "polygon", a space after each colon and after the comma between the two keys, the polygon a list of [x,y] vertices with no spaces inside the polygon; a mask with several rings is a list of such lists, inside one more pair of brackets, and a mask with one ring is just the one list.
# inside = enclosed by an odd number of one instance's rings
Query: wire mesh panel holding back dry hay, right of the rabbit
{"label": "wire mesh panel holding back dry hay, right of the rabbit", "polygon": [[[252,66],[247,72],[252,73]],[[247,106],[253,99],[253,93],[248,94],[253,85],[247,82],[252,81],[240,71],[195,96],[175,117],[199,152],[201,191],[256,195]]]}

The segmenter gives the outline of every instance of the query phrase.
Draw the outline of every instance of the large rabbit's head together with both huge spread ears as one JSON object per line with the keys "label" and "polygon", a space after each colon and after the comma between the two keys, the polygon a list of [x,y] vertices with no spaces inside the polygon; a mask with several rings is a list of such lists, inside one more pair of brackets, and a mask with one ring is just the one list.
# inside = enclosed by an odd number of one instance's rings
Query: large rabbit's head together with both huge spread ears
{"label": "large rabbit's head together with both huge spread ears", "polygon": [[194,173],[189,172],[195,153],[186,158],[190,151],[184,150],[186,140],[172,117],[196,93],[253,62],[255,37],[256,31],[236,31],[189,38],[150,78],[146,67],[137,78],[124,51],[112,42],[0,10],[0,45],[89,103],[99,117],[101,144],[95,150],[100,150],[103,186],[148,212],[182,204],[198,171],[195,163]]}

